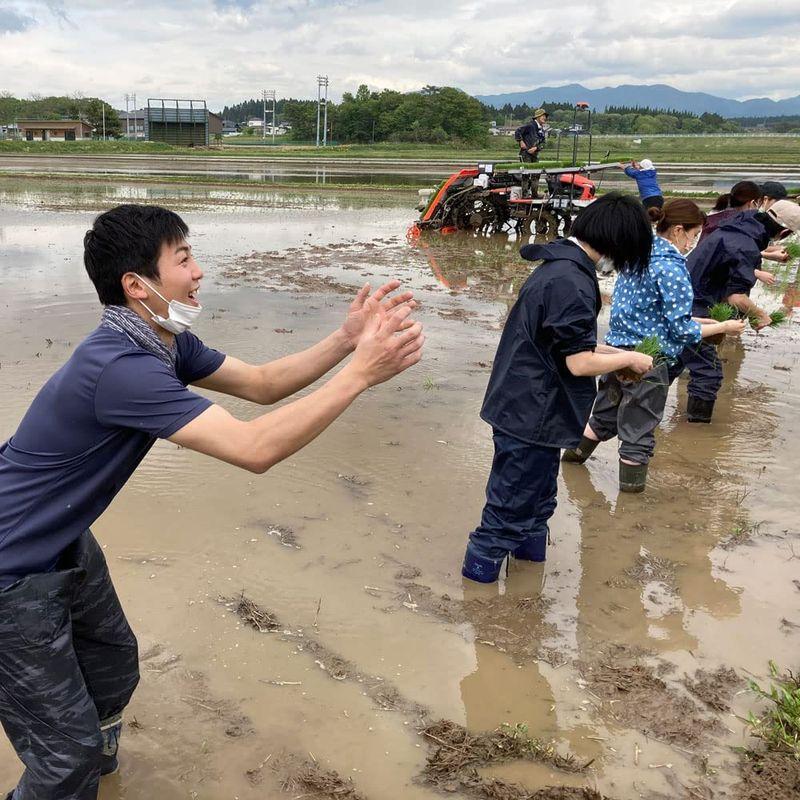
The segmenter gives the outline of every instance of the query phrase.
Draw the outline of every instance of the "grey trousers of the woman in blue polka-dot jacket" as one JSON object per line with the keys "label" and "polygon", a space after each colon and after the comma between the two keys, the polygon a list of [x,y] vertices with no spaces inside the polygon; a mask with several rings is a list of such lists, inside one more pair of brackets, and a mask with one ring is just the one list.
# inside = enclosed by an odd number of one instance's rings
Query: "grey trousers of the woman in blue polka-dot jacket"
{"label": "grey trousers of the woman in blue polka-dot jacket", "polygon": [[640,381],[621,381],[609,372],[598,383],[589,427],[601,442],[618,437],[620,458],[647,464],[653,457],[668,392],[666,364],[650,370]]}

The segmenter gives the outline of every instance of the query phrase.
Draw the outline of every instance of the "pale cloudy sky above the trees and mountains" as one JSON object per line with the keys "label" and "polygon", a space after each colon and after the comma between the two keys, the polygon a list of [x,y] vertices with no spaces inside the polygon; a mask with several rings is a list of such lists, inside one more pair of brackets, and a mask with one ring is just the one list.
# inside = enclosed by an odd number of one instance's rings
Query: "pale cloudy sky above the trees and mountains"
{"label": "pale cloudy sky above the trees and mountains", "polygon": [[800,94],[798,41],[800,0],[0,0],[0,91],[216,109],[313,97],[322,73],[333,99],[572,82],[780,99]]}

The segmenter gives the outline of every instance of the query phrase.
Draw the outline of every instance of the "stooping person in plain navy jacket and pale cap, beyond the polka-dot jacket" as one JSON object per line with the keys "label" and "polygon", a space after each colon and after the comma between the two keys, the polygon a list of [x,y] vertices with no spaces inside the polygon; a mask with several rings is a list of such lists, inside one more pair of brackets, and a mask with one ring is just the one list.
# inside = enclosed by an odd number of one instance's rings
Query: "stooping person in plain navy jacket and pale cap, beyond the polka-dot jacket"
{"label": "stooping person in plain navy jacket and pale cap, beyond the polka-dot jacket", "polygon": [[[769,211],[742,211],[723,222],[713,233],[700,239],[687,259],[694,289],[692,313],[708,318],[715,303],[725,302],[742,314],[757,318],[755,329],[772,324],[763,309],[750,299],[756,283],[761,253],[772,239],[787,231],[800,230],[800,206],[779,200]],[[714,402],[722,386],[722,364],[714,345],[701,342],[684,349],[670,366],[670,382],[689,370],[689,422],[711,422]]]}

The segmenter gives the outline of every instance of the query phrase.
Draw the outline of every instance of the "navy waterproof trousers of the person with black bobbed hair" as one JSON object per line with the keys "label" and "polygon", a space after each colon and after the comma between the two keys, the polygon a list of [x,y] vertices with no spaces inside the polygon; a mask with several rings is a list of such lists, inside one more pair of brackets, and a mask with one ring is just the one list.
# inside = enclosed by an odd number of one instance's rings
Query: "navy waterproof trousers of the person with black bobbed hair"
{"label": "navy waterproof trousers of the person with black bobbed hair", "polygon": [[543,537],[556,510],[561,450],[527,444],[498,430],[480,525],[469,535],[475,553],[504,558],[526,540]]}

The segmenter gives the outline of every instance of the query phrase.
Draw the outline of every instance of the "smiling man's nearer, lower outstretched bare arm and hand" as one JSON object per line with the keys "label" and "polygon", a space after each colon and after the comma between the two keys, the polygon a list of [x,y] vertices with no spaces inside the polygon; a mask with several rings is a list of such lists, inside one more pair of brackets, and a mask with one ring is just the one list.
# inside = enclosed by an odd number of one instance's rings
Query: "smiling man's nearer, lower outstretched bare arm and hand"
{"label": "smiling man's nearer, lower outstretched bare arm and hand", "polygon": [[408,369],[422,355],[422,326],[405,325],[408,306],[389,314],[372,299],[367,304],[371,318],[353,360],[324,386],[249,422],[211,406],[169,440],[256,473],[305,447],[361,392]]}

